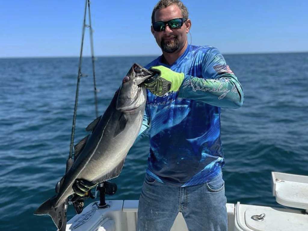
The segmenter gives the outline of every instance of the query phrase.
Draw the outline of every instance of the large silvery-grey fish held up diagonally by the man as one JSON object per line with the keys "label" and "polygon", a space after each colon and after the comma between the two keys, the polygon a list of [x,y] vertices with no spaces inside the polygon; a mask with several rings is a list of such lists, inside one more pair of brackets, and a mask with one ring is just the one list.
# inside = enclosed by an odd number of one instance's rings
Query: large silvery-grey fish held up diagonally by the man
{"label": "large silvery-grey fish held up diagonally by the man", "polygon": [[34,215],[49,215],[60,230],[67,198],[74,194],[76,179],[100,183],[120,175],[129,149],[140,131],[145,104],[144,82],[154,73],[134,63],[103,115],[91,122],[91,134],[74,146],[74,163],[59,181],[59,192],[45,201]]}

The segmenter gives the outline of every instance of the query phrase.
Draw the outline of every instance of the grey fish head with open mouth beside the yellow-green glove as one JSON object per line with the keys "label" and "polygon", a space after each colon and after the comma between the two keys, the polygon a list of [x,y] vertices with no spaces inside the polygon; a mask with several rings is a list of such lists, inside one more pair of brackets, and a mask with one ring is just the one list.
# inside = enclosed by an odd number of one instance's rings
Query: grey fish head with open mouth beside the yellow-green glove
{"label": "grey fish head with open mouth beside the yellow-green glove", "polygon": [[116,109],[131,111],[146,102],[146,89],[144,81],[154,75],[152,71],[134,63],[127,75],[123,78],[119,89]]}

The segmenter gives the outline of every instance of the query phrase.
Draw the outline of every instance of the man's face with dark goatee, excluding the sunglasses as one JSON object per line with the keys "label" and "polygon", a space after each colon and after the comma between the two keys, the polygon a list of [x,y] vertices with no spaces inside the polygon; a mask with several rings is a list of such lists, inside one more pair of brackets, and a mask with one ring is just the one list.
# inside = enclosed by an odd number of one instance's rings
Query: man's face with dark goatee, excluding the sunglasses
{"label": "man's face with dark goatee, excluding the sunglasses", "polygon": [[[181,10],[177,5],[171,5],[155,12],[155,22],[167,22],[171,19],[182,17]],[[191,23],[188,19],[183,23],[182,27],[177,29],[170,29],[168,24],[166,24],[166,28],[163,31],[154,31],[153,26],[151,26],[151,31],[158,46],[167,53],[173,53],[180,51],[185,46],[187,42],[186,34],[189,32],[190,25]]]}

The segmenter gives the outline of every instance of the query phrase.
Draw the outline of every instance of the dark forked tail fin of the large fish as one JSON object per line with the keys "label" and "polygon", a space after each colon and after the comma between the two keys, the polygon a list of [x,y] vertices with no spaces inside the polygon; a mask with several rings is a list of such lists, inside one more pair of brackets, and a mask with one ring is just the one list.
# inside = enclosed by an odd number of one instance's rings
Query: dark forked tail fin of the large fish
{"label": "dark forked tail fin of the large fish", "polygon": [[49,198],[45,201],[36,211],[34,215],[43,216],[48,215],[51,217],[52,221],[57,226],[58,230],[62,228],[62,225],[65,223],[65,201],[62,204],[59,204],[55,207],[57,201],[57,196]]}

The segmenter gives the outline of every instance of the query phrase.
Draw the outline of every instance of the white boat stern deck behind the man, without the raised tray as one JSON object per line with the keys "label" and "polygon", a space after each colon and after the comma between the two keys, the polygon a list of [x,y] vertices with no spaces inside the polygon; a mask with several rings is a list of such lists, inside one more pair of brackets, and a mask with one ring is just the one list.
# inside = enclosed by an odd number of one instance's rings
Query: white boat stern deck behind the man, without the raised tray
{"label": "white boat stern deck behind the man, without the raised tray", "polygon": [[[83,213],[67,222],[66,231],[136,231],[138,201],[106,201],[110,208],[98,209],[91,203]],[[307,231],[308,215],[301,210],[280,209],[266,206],[227,204],[229,231]],[[256,215],[265,217],[253,220]],[[181,213],[171,231],[188,231]]]}

